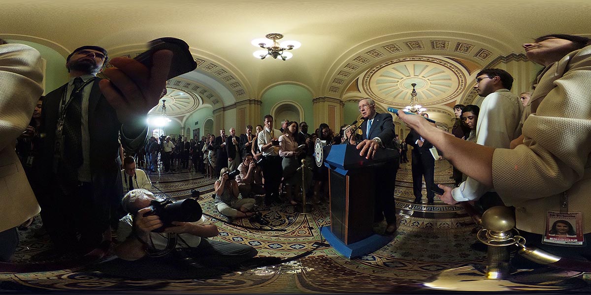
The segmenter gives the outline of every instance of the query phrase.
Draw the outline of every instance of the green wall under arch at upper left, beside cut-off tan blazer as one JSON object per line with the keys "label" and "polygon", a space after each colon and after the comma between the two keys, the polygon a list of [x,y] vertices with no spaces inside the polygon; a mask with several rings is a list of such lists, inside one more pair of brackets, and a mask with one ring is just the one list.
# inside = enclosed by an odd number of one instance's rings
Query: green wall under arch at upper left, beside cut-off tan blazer
{"label": "green wall under arch at upper left, beside cut-off tan blazer", "polygon": [[68,71],[66,70],[66,57],[61,56],[57,51],[46,45],[37,44],[30,41],[6,40],[9,43],[20,43],[29,45],[41,53],[41,58],[46,60],[45,70],[45,93],[49,93],[57,87],[62,86],[68,80]]}

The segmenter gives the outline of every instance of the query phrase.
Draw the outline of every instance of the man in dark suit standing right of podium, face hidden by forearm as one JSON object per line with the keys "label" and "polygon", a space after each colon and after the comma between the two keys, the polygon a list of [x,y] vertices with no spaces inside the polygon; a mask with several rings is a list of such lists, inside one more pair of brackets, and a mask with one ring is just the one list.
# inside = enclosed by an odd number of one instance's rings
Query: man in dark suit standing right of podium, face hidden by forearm
{"label": "man in dark suit standing right of podium, face hidden by forearm", "polygon": [[[424,114],[427,115],[427,114]],[[428,115],[426,116],[428,118]],[[410,130],[406,137],[408,145],[413,147],[412,152],[412,169],[413,169],[413,192],[414,204],[423,204],[421,198],[421,188],[423,188],[423,176],[425,177],[425,185],[427,189],[427,204],[433,205],[435,193],[431,191],[433,186],[433,179],[435,173],[435,158],[431,155],[430,148],[433,148],[430,142],[424,140],[414,130]]]}

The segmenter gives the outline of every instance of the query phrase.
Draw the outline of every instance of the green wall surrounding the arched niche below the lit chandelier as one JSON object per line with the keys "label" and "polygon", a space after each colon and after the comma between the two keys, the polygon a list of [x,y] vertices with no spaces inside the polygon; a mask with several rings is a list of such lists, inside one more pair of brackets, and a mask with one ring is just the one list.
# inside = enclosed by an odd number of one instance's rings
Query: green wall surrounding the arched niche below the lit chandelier
{"label": "green wall surrounding the arched niche below the lit chandelier", "polygon": [[[297,101],[304,110],[304,120],[308,123],[308,126],[316,126],[313,116],[312,99],[313,97],[310,91],[298,85],[284,84],[272,87],[262,95],[261,118],[259,122],[251,122],[252,126],[255,124],[261,124],[262,118],[266,114],[271,113],[271,108],[282,100]],[[277,125],[275,127],[277,127]]]}

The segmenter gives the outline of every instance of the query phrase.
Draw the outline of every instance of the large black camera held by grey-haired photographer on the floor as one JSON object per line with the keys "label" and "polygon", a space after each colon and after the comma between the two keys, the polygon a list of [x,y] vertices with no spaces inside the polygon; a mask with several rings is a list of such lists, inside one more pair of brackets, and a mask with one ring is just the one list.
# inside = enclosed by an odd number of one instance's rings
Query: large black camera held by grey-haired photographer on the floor
{"label": "large black camera held by grey-haired photographer on the floor", "polygon": [[173,221],[199,221],[203,215],[203,209],[199,202],[191,198],[176,202],[171,199],[155,199],[150,201],[148,208],[151,211],[144,214],[144,217],[157,215],[164,224],[153,232],[163,232],[165,228],[173,226]]}

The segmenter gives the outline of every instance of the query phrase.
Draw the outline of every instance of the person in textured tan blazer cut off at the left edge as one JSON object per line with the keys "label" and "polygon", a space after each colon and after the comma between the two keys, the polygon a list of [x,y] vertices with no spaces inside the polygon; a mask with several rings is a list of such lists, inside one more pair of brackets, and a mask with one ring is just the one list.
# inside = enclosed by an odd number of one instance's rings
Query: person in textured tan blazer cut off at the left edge
{"label": "person in textured tan blazer cut off at the left edge", "polygon": [[17,247],[16,227],[40,210],[14,148],[43,93],[38,51],[4,43],[0,39],[0,261]]}

